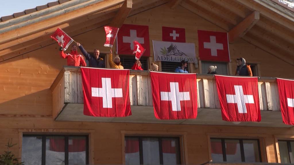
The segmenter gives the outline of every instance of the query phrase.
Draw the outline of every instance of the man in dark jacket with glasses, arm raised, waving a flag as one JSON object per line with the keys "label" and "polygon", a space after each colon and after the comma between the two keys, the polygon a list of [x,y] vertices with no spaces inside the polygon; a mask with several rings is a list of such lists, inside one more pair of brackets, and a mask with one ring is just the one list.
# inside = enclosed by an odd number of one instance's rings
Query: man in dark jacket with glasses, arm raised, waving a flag
{"label": "man in dark jacket with glasses, arm raised, waving a flag", "polygon": [[85,58],[89,61],[89,67],[93,68],[105,68],[105,62],[102,58],[99,58],[100,52],[98,49],[95,49],[93,55],[90,55],[80,43],[77,43],[78,48],[80,48],[81,52],[85,56]]}

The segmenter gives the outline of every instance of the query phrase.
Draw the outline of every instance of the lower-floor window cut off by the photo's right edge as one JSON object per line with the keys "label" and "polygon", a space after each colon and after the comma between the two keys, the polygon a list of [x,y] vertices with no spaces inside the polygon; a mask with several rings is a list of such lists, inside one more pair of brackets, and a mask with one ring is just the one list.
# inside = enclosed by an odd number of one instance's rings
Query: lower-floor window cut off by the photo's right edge
{"label": "lower-floor window cut off by the photo's right edge", "polygon": [[278,140],[281,163],[294,164],[294,141]]}

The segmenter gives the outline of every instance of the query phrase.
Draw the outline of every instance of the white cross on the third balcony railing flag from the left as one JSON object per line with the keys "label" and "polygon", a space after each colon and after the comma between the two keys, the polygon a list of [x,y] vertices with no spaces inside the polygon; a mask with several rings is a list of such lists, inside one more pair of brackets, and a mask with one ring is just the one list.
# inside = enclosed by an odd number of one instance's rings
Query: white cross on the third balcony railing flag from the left
{"label": "white cross on the third balcony railing flag from the left", "polygon": [[237,103],[239,113],[247,113],[246,103],[254,104],[253,95],[244,95],[242,85],[234,85],[235,95],[226,95],[227,103]]}

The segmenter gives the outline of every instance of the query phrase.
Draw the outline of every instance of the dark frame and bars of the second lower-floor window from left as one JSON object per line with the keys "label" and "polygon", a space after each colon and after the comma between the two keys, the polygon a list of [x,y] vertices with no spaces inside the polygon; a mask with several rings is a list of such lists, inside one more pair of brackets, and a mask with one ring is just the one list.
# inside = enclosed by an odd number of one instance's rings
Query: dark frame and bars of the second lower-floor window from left
{"label": "dark frame and bars of the second lower-floor window from left", "polygon": [[[180,140],[180,137],[171,137],[171,136],[128,136],[128,135],[125,135],[124,136],[124,139],[126,138],[138,138],[139,140],[139,156],[140,156],[140,165],[143,165],[144,161],[143,161],[143,141],[142,139],[143,138],[158,138],[158,146],[159,146],[159,164],[160,165],[163,165],[163,152],[162,152],[162,139],[164,138],[173,138],[173,139],[176,139],[178,141],[178,154],[176,154],[179,162],[178,164],[181,164],[182,162],[182,159],[181,159],[181,140]],[[125,147],[125,145],[124,145]],[[126,162],[124,162],[125,164]]]}

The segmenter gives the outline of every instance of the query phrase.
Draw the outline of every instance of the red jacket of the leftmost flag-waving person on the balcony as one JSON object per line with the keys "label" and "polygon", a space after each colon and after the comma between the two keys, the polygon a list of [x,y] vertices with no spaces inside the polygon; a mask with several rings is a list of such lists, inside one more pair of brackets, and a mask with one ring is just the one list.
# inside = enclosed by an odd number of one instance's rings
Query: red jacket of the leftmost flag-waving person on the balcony
{"label": "red jacket of the leftmost flag-waving person on the balcony", "polygon": [[77,51],[71,51],[71,53],[64,53],[63,50],[60,51],[60,56],[62,58],[67,58],[68,66],[86,66],[83,55],[78,54]]}

